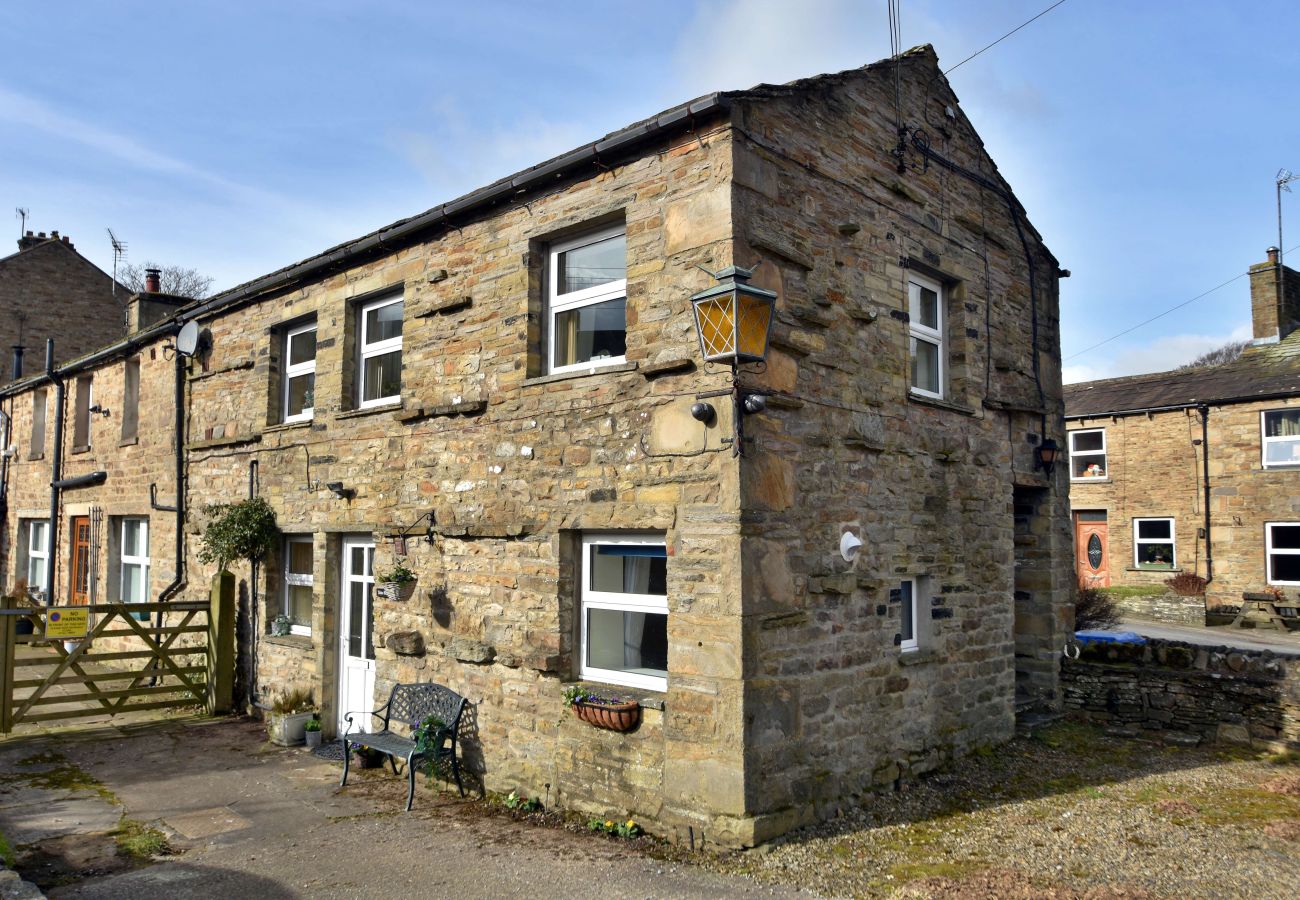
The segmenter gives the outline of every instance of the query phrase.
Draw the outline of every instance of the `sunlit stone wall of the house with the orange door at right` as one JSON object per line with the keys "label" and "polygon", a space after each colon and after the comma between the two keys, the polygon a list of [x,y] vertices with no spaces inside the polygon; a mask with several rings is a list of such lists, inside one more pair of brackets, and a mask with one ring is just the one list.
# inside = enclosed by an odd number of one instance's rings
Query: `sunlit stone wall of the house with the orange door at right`
{"label": "sunlit stone wall of the house with the orange door at right", "polygon": [[[1216,406],[1209,416],[1210,531],[1214,580],[1209,606],[1239,605],[1242,593],[1266,585],[1264,532],[1268,522],[1300,522],[1296,471],[1264,468],[1260,414],[1300,406],[1300,399]],[[1205,576],[1200,416],[1195,410],[1070,420],[1067,427],[1105,428],[1108,477],[1070,485],[1079,510],[1105,510],[1110,584],[1160,584],[1173,572],[1134,566],[1132,520],[1173,516],[1174,572]],[[1286,588],[1295,598],[1294,589]]]}

